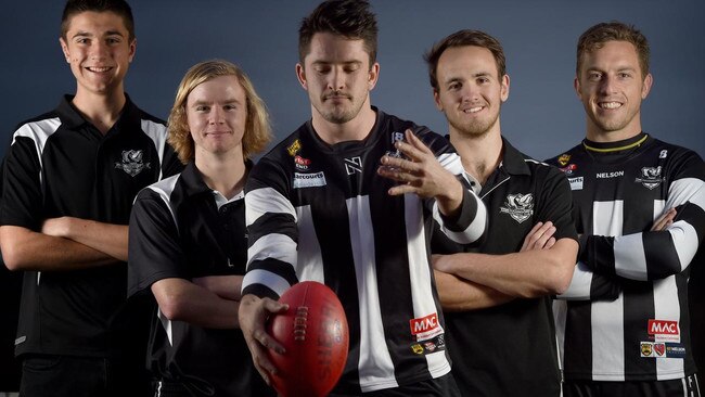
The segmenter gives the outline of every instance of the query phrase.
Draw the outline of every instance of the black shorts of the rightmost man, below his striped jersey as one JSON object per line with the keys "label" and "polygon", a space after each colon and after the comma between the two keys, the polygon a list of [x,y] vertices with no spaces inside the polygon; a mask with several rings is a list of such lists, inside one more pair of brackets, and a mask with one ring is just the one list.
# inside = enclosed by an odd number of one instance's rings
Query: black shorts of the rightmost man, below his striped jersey
{"label": "black shorts of the rightmost man, below his striped jersey", "polygon": [[564,397],[700,397],[697,376],[672,381],[598,382],[565,381]]}

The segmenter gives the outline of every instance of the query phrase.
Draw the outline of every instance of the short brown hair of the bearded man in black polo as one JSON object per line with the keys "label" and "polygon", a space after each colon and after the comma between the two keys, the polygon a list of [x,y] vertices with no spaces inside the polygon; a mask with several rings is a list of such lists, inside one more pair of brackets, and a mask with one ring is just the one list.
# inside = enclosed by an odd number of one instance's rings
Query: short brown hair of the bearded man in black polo
{"label": "short brown hair of the bearded man in black polo", "polygon": [[435,43],[431,50],[426,51],[423,55],[424,61],[426,61],[426,64],[428,65],[428,79],[431,80],[431,87],[433,87],[434,91],[437,92],[439,89],[437,72],[440,55],[443,55],[443,53],[449,48],[466,46],[488,49],[489,52],[492,53],[492,56],[495,56],[498,77],[501,79],[502,76],[507,74],[507,59],[504,57],[504,50],[502,49],[502,44],[499,43],[499,40],[480,30],[458,30]]}

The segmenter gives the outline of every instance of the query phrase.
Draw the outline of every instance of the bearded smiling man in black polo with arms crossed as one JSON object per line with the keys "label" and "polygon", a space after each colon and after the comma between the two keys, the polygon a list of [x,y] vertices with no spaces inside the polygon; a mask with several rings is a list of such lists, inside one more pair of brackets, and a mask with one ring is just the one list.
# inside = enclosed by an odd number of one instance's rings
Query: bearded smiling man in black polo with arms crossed
{"label": "bearded smiling man in black polo with arms crossed", "polygon": [[568,286],[577,255],[568,183],[501,136],[510,80],[499,41],[460,30],[425,59],[450,142],[489,218],[477,248],[441,233],[432,242],[448,254],[434,267],[453,375],[463,396],[559,396],[549,295]]}

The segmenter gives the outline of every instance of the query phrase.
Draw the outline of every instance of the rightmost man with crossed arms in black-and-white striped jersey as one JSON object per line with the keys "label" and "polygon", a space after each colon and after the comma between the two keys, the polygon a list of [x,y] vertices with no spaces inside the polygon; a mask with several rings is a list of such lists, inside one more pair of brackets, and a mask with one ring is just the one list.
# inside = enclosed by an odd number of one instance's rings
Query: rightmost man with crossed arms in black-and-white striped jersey
{"label": "rightmost man with crossed arms in black-and-white striped jersey", "polygon": [[[705,164],[642,131],[649,43],[632,26],[580,36],[586,139],[552,158],[573,190],[578,267],[556,302],[566,396],[697,396],[688,282],[705,233]],[[672,218],[672,219],[671,219]],[[618,287],[592,289],[597,276]]]}

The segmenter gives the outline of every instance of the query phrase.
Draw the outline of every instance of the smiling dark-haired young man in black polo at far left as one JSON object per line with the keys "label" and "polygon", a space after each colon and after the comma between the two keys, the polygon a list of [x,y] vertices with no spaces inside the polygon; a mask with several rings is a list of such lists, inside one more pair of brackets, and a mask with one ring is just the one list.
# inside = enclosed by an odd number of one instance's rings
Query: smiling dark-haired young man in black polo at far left
{"label": "smiling dark-haired young man in black polo at far left", "polygon": [[3,168],[2,254],[25,271],[21,393],[140,395],[146,333],[124,307],[127,225],[137,192],[181,166],[164,124],[124,91],[136,50],[129,5],[68,1],[60,42],[76,94],[20,125]]}

